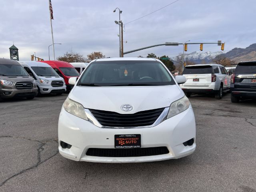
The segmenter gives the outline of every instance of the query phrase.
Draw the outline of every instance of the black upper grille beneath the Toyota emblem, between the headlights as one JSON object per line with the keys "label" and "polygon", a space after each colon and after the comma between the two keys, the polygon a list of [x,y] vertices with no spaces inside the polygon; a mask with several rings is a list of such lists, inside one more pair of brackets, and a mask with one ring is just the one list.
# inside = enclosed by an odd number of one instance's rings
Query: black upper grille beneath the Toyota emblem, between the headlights
{"label": "black upper grille beneath the Toyota emblem, between the headlights", "polygon": [[89,109],[103,126],[109,127],[138,127],[152,125],[164,108],[140,111],[134,114],[120,114],[111,111]]}

